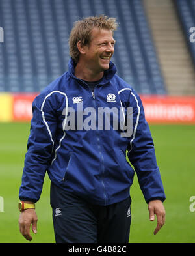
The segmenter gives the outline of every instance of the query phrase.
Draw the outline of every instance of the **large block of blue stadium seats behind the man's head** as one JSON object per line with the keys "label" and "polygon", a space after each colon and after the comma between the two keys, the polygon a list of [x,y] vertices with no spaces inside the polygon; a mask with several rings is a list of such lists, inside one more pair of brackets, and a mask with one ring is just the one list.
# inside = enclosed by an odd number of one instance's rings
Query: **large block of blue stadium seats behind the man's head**
{"label": "large block of blue stadium seats behind the man's head", "polygon": [[0,92],[38,92],[63,74],[73,22],[98,14],[119,23],[118,75],[141,94],[166,94],[141,0],[0,0]]}

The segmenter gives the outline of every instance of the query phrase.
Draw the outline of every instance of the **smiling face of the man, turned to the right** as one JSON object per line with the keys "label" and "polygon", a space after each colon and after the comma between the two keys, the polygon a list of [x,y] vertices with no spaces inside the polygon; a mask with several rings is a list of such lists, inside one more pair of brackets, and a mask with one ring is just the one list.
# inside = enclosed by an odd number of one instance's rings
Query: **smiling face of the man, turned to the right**
{"label": "smiling face of the man, turned to the right", "polygon": [[114,53],[115,40],[112,31],[94,28],[91,42],[86,46],[85,62],[94,73],[109,69],[109,62]]}

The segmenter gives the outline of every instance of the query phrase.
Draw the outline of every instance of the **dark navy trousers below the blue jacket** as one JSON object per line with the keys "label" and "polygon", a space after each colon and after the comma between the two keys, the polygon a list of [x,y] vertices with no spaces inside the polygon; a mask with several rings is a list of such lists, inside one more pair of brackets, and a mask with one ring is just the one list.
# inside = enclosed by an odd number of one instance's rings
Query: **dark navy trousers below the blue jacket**
{"label": "dark navy trousers below the blue jacket", "polygon": [[93,205],[51,182],[57,243],[128,243],[131,197],[113,205]]}

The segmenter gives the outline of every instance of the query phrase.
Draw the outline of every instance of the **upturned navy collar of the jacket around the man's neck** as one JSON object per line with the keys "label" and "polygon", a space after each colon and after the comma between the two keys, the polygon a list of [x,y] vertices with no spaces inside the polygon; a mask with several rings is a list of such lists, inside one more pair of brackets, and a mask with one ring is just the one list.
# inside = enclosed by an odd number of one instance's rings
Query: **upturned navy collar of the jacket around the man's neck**
{"label": "upturned navy collar of the jacket around the man's neck", "polygon": [[[105,70],[105,72],[104,72],[104,76],[101,81],[101,84],[108,83],[110,81],[110,79],[112,79],[116,73],[116,66],[114,65],[114,63],[112,63],[112,61],[110,61],[109,66],[110,66],[109,69]],[[75,62],[73,61],[72,57],[70,58],[69,63],[68,63],[68,73],[70,74],[70,76],[72,76],[72,78],[81,80],[81,79],[75,77]]]}

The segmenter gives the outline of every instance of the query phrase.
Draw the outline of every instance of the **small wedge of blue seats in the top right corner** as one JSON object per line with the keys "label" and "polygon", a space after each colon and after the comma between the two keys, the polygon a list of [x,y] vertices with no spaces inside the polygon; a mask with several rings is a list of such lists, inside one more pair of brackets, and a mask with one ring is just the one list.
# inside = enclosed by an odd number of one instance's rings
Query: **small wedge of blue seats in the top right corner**
{"label": "small wedge of blue seats in the top right corner", "polygon": [[[175,1],[175,5],[177,7],[179,18],[181,20],[183,30],[187,38],[187,44],[195,64],[195,42],[190,41],[190,35],[192,35],[192,31],[190,31],[190,28],[195,28],[195,0],[177,0]],[[195,30],[193,30],[193,32],[195,32]]]}

